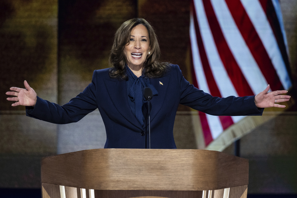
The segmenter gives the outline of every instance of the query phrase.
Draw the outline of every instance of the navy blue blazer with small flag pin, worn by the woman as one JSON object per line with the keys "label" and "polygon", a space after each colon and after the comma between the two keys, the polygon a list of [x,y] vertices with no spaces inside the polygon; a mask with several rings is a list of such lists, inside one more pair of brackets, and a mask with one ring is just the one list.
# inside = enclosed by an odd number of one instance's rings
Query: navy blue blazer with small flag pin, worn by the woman
{"label": "navy blue blazer with small flag pin, worn by the woman", "polygon": [[[178,65],[171,65],[163,77],[149,80],[158,92],[151,100],[151,148],[176,148],[173,125],[179,103],[211,115],[263,112],[255,106],[254,96],[218,98],[198,90]],[[92,83],[63,106],[38,97],[34,108],[26,108],[28,116],[56,124],[77,122],[98,108],[107,136],[104,148],[148,148],[148,125],[142,126],[132,113],[126,81],[110,78],[108,68],[94,71]],[[146,112],[147,106],[143,109]]]}

